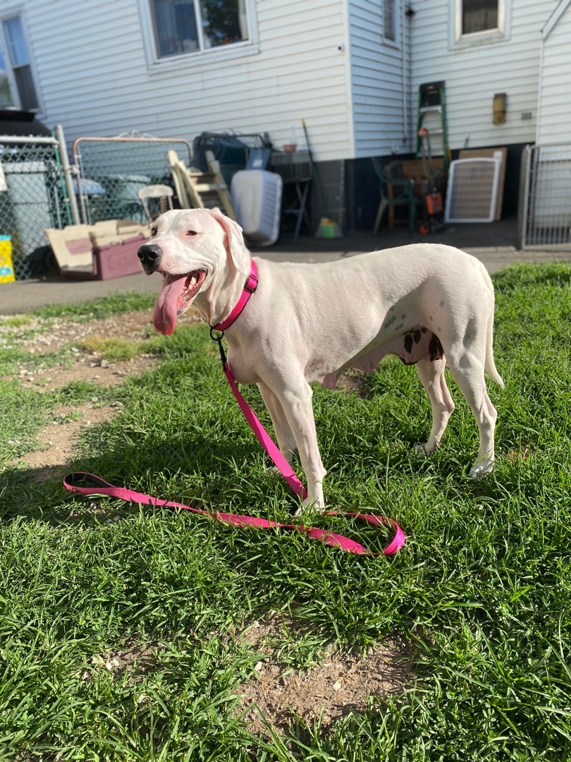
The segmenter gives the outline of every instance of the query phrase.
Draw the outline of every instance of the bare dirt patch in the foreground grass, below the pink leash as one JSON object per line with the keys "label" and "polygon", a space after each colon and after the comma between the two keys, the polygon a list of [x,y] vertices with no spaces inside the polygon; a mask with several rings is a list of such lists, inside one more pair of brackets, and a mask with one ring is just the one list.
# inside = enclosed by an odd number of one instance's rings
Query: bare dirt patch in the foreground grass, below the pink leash
{"label": "bare dirt patch in the foreground grass, below the pink leash", "polygon": [[327,646],[321,664],[304,671],[289,668],[275,658],[273,646],[284,624],[294,631],[299,627],[293,620],[284,622],[283,616],[273,615],[266,622],[255,622],[243,636],[263,653],[270,653],[256,664],[257,676],[239,689],[237,709],[245,710],[244,720],[252,732],[268,735],[267,723],[282,734],[295,717],[310,723],[321,719],[327,727],[352,710],[365,709],[369,696],[401,693],[413,677],[410,648],[397,641],[370,647],[364,656]]}

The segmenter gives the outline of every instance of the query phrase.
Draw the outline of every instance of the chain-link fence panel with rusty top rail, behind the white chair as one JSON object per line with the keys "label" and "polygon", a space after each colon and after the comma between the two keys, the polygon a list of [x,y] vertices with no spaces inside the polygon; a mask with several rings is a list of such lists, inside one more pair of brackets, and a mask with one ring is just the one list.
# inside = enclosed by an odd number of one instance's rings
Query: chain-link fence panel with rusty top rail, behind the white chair
{"label": "chain-link fence panel with rusty top rail, behind the white chair", "polygon": [[167,152],[191,165],[190,143],[153,137],[78,138],[73,158],[78,167],[81,218],[87,224],[104,219],[132,219],[145,223],[138,191],[146,185],[173,187]]}

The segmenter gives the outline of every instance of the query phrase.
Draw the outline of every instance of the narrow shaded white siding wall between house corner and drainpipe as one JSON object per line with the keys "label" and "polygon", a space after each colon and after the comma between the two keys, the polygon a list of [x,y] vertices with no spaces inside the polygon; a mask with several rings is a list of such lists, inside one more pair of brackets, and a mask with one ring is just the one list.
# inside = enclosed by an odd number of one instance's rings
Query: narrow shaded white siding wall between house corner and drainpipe
{"label": "narrow shaded white siding wall between house corner and drainpipe", "polygon": [[[400,2],[396,5],[398,8]],[[405,117],[408,98],[404,91],[403,55],[407,55],[407,39],[402,13],[397,15],[397,27],[395,43],[384,40],[381,0],[349,0],[357,158],[412,150],[408,113]]]}

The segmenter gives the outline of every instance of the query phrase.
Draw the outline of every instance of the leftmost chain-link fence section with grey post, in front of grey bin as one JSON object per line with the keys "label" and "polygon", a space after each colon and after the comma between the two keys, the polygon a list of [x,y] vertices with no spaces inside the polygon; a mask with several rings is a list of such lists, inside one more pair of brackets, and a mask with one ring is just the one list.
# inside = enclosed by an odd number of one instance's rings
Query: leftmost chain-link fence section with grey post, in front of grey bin
{"label": "leftmost chain-link fence section with grey post, in front of grey bin", "polygon": [[46,273],[46,228],[69,225],[68,197],[53,138],[0,136],[0,234],[9,236],[17,280]]}

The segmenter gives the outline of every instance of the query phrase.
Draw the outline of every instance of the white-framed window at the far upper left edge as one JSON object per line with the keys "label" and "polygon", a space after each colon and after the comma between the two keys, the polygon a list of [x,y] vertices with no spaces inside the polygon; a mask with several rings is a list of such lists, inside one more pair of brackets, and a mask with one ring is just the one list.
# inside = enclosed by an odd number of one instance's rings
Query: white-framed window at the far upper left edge
{"label": "white-framed window at the far upper left edge", "polygon": [[0,106],[16,106],[24,111],[37,111],[40,108],[20,16],[2,20]]}

